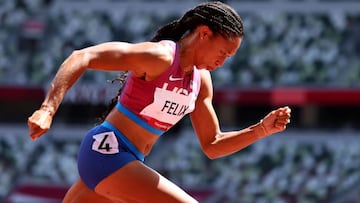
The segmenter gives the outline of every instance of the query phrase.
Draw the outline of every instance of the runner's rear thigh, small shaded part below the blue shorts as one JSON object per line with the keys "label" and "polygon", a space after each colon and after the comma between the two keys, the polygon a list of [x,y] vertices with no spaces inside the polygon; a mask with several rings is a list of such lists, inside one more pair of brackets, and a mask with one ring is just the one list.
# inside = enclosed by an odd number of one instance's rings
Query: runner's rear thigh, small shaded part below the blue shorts
{"label": "runner's rear thigh, small shaded part below the blue shorts", "polygon": [[115,203],[106,197],[96,194],[90,190],[84,182],[79,179],[67,191],[63,203]]}

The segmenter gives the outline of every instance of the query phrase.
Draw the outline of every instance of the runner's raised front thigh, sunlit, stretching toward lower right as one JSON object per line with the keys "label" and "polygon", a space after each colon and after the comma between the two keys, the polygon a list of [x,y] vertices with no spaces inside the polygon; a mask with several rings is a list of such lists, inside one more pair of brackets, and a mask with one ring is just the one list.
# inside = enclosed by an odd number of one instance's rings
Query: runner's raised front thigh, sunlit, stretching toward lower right
{"label": "runner's raised front thigh, sunlit, stretching toward lower right", "polygon": [[118,169],[96,187],[95,191],[112,200],[133,202],[197,202],[184,190],[140,161]]}

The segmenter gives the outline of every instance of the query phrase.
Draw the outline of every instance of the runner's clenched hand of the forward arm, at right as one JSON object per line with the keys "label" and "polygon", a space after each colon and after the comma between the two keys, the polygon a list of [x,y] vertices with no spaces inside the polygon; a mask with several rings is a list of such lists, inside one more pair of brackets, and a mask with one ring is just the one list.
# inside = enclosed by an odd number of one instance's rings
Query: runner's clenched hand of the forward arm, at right
{"label": "runner's clenched hand of the forward arm, at right", "polygon": [[267,135],[284,131],[290,123],[291,109],[288,106],[271,111],[261,120],[261,125]]}

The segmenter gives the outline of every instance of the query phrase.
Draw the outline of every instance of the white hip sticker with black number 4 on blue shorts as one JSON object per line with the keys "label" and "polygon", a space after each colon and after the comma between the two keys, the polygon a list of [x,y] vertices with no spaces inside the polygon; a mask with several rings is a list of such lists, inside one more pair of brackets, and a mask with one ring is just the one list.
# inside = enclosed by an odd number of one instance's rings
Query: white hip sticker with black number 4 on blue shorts
{"label": "white hip sticker with black number 4 on blue shorts", "polygon": [[114,132],[104,132],[93,136],[92,150],[102,154],[115,154],[119,152],[118,141]]}

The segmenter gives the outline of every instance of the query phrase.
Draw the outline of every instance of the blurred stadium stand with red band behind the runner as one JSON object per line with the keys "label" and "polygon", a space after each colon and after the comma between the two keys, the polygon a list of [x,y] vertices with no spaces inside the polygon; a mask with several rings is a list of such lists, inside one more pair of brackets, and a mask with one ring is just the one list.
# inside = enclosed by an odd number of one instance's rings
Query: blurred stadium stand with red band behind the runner
{"label": "blurred stadium stand with red band behind the runner", "polygon": [[[26,129],[72,50],[147,40],[199,2],[0,1],[0,199],[56,202],[77,178],[79,141],[115,95],[117,85],[107,81],[118,73],[86,72],[46,137],[31,142]],[[292,107],[292,123],[284,135],[209,161],[185,119],[148,163],[209,203],[358,202],[360,1],[226,2],[241,14],[246,34],[238,53],[213,72],[222,126],[244,127],[281,105]],[[54,183],[55,199],[36,192]]]}

